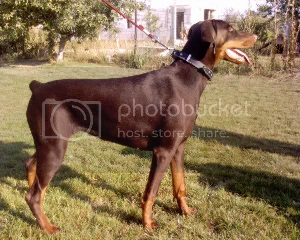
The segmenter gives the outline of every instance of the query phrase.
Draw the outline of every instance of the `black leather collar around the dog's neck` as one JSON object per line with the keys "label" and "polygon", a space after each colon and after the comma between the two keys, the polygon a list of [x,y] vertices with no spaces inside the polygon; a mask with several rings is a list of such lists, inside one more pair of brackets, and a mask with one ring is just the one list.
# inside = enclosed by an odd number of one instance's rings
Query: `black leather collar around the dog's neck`
{"label": "black leather collar around the dog's neck", "polygon": [[212,77],[213,77],[213,72],[212,70],[210,70],[207,66],[205,66],[202,62],[195,60],[194,58],[192,58],[191,55],[187,55],[182,51],[178,51],[178,50],[174,50],[172,53],[172,57],[174,59],[181,59],[187,63],[189,63],[190,65],[196,67],[197,69],[201,70],[201,73],[204,74],[209,81],[211,81]]}

